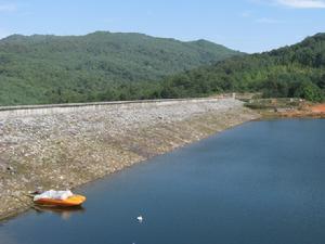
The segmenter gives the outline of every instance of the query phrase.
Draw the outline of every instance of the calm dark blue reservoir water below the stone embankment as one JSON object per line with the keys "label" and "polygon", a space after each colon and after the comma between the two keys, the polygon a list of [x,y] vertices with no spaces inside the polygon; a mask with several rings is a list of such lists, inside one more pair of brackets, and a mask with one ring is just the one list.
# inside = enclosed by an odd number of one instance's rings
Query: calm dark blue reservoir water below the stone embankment
{"label": "calm dark blue reservoir water below the stone embankment", "polygon": [[0,243],[322,244],[325,120],[248,123],[77,192],[83,208],[30,210]]}

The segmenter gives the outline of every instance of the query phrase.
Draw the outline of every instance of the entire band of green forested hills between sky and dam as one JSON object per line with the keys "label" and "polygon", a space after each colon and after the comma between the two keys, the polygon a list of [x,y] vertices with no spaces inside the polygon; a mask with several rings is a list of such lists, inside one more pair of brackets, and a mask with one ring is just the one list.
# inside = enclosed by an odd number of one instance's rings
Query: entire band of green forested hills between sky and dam
{"label": "entire band of green forested hills between sky and dam", "polygon": [[11,36],[0,41],[0,87],[2,105],[233,91],[318,102],[325,99],[325,34],[251,55],[139,34]]}

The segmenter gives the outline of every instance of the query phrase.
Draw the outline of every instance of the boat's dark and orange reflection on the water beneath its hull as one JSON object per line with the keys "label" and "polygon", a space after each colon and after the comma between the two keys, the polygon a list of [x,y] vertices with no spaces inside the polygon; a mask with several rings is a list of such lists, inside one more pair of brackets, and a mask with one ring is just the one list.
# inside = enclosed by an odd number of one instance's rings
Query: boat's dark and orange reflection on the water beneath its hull
{"label": "boat's dark and orange reflection on the water beneath its hull", "polygon": [[84,214],[86,208],[82,206],[75,206],[75,207],[53,207],[53,206],[42,206],[42,205],[37,205],[34,206],[34,209],[38,214],[47,214],[47,213],[52,213],[55,215],[58,215],[63,220],[68,220],[72,215],[74,214]]}

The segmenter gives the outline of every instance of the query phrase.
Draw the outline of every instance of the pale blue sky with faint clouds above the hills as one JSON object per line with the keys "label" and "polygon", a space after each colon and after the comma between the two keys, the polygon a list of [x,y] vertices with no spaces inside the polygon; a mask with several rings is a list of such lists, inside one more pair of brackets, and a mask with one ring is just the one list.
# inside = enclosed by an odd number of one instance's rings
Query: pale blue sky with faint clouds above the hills
{"label": "pale blue sky with faint clouds above the hills", "polygon": [[260,52],[325,31],[325,0],[0,0],[0,38],[95,30]]}

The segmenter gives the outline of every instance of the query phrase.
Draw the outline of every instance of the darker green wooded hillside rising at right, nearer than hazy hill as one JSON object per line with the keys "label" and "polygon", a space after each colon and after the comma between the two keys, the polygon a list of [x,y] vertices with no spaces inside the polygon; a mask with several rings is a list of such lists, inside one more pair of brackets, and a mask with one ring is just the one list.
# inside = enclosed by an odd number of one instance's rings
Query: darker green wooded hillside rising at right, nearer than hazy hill
{"label": "darker green wooded hillside rising at right, nearer than hazy hill", "polygon": [[224,91],[260,91],[264,97],[325,100],[325,34],[297,44],[232,57],[169,77],[162,98],[200,97]]}

